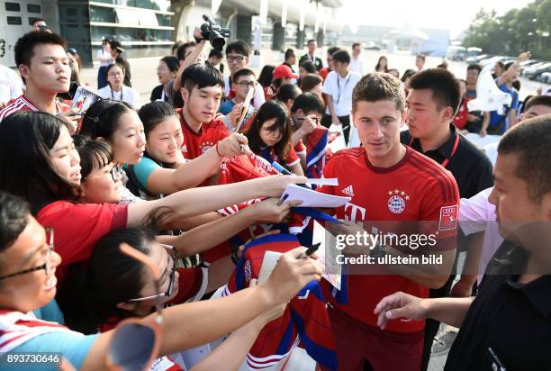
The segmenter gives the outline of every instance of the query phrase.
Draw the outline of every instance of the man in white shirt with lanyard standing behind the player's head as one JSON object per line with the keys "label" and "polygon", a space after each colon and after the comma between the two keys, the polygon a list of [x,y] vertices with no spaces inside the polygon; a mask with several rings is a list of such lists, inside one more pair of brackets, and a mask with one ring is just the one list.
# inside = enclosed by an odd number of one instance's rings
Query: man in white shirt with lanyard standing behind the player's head
{"label": "man in white shirt with lanyard standing behind the player's head", "polygon": [[348,70],[350,54],[339,50],[333,54],[334,70],[329,73],[323,83],[323,95],[327,101],[324,120],[321,122],[329,127],[331,123],[342,126],[345,140],[348,143],[350,132],[350,111],[352,110],[352,91],[362,78],[357,72]]}

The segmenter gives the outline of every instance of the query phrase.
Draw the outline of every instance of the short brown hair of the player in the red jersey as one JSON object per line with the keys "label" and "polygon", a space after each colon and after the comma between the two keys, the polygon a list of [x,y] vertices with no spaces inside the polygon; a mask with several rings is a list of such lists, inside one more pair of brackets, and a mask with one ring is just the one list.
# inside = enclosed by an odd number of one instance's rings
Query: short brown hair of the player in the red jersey
{"label": "short brown hair of the player in the red jersey", "polygon": [[358,102],[393,101],[396,110],[405,109],[405,92],[400,80],[386,72],[373,72],[362,77],[352,91],[352,110]]}

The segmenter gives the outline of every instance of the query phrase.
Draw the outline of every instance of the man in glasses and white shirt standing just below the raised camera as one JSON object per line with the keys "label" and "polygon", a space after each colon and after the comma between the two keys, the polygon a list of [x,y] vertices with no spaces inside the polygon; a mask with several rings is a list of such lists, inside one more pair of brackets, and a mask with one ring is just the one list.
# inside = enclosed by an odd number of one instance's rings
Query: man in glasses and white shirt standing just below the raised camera
{"label": "man in glasses and white shirt standing just below the raised camera", "polygon": [[[231,99],[235,95],[235,93],[231,91],[233,74],[239,71],[239,69],[246,68],[248,66],[249,54],[250,47],[245,41],[233,41],[226,46],[226,61],[228,62],[228,67],[230,68],[230,76],[224,77],[224,96],[226,98]],[[257,83],[255,95],[253,96],[253,106],[258,109],[262,104],[264,104],[264,102],[266,102],[264,89]]]}

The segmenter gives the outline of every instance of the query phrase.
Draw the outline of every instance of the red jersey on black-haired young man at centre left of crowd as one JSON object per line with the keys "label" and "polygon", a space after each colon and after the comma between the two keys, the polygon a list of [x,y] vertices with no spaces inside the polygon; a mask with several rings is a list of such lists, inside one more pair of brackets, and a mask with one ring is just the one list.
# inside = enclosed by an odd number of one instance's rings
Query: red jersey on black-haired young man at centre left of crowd
{"label": "red jersey on black-haired young man at centre left of crowd", "polygon": [[203,123],[201,131],[195,132],[184,120],[182,110],[176,110],[180,117],[180,124],[184,133],[184,144],[182,145],[182,154],[186,159],[194,159],[201,156],[204,152],[215,146],[220,140],[231,135],[223,122],[212,120],[212,122]]}

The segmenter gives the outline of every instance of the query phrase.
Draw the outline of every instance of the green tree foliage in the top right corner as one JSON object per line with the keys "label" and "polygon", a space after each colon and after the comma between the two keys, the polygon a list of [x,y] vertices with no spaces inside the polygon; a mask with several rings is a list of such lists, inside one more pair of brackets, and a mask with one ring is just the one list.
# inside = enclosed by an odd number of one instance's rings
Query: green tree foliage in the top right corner
{"label": "green tree foliage in the top right corner", "polygon": [[530,50],[535,59],[551,60],[551,0],[535,0],[497,16],[481,9],[465,32],[463,45],[484,53],[517,56]]}

